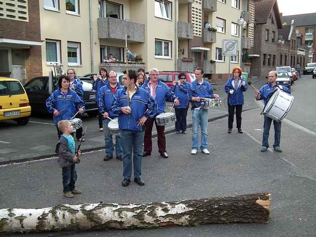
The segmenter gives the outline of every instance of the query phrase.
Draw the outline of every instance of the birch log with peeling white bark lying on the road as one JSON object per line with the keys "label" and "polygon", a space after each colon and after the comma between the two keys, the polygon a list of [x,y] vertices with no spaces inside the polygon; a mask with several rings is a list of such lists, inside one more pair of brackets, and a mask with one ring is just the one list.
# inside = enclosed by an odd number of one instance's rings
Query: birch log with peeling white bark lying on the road
{"label": "birch log with peeling white bark lying on the road", "polygon": [[0,209],[0,233],[267,223],[269,193],[140,204],[92,203]]}

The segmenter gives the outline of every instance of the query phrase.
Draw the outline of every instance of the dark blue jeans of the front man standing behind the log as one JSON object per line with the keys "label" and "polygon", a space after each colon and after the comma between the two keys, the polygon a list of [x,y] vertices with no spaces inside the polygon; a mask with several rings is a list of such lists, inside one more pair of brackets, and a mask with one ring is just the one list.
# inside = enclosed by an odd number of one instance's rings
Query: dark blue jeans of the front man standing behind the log
{"label": "dark blue jeans of the front man standing behind the log", "polygon": [[134,178],[142,175],[142,151],[144,141],[144,131],[135,132],[121,130],[123,145],[123,177],[130,179],[132,176],[132,152],[134,163]]}

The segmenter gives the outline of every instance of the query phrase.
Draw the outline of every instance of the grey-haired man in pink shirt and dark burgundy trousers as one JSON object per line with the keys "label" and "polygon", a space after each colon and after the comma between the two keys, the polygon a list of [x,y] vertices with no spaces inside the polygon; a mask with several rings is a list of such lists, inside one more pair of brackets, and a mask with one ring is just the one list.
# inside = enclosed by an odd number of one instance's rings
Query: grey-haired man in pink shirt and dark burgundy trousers
{"label": "grey-haired man in pink shirt and dark burgundy trousers", "polygon": [[154,122],[158,133],[158,151],[160,156],[168,158],[166,153],[166,136],[164,134],[164,126],[158,126],[156,122],[156,116],[164,113],[166,100],[174,102],[175,105],[179,105],[179,100],[176,99],[173,92],[165,83],[158,80],[158,69],[152,68],[149,72],[149,81],[144,82],[142,88],[147,90],[151,96],[157,101],[158,111],[155,118],[148,118],[145,123],[145,137],[144,137],[144,152],[143,157],[150,156],[152,154],[152,131]]}

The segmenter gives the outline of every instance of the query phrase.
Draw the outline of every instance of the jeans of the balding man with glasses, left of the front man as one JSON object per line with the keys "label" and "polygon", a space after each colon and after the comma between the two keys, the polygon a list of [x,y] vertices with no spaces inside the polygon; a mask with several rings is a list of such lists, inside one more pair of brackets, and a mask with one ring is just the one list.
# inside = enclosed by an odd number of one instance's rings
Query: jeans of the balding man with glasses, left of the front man
{"label": "jeans of the balding man with glasses, left of the front man", "polygon": [[[108,123],[110,119],[103,119],[103,132],[104,132],[104,142],[105,142],[105,153],[108,156],[113,157],[113,137],[112,134],[108,132]],[[122,144],[121,144],[121,136],[116,135],[116,144],[115,144],[115,152],[117,157],[121,157],[123,155],[122,152]]]}

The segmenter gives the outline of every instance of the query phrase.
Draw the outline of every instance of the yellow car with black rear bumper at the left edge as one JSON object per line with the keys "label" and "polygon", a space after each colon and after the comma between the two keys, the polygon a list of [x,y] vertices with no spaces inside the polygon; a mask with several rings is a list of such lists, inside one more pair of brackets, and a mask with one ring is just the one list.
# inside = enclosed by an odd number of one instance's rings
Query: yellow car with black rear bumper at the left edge
{"label": "yellow car with black rear bumper at the left edge", "polygon": [[20,81],[0,77],[0,121],[13,119],[25,125],[30,115],[29,98]]}

